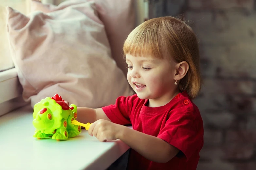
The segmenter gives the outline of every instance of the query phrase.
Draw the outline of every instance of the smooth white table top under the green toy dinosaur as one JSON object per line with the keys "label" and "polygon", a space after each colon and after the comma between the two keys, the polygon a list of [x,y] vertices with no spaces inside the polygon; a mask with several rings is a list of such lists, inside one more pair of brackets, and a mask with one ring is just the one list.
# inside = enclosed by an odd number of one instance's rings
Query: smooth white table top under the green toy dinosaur
{"label": "smooth white table top under the green toy dinosaur", "polygon": [[121,140],[99,142],[85,129],[66,141],[36,139],[32,113],[26,106],[0,117],[0,170],[103,170],[129,149]]}

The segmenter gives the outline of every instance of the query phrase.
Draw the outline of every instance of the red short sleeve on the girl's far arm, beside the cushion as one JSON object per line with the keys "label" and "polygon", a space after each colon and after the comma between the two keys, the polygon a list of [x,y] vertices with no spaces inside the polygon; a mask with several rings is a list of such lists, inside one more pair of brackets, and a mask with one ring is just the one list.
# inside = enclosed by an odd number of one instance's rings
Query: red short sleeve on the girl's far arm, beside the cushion
{"label": "red short sleeve on the girl's far arm, beside the cushion", "polygon": [[116,99],[114,105],[102,107],[104,113],[113,123],[128,125],[131,124],[129,118],[129,107],[131,97],[120,96]]}

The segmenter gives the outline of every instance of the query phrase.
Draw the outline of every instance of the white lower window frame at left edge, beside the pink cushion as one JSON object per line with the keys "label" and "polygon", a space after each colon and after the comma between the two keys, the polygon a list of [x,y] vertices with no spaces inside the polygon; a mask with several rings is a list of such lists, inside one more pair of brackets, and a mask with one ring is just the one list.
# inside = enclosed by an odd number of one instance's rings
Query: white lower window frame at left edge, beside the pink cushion
{"label": "white lower window frame at left edge, beside the pink cushion", "polygon": [[0,116],[26,104],[22,99],[17,69],[0,72]]}

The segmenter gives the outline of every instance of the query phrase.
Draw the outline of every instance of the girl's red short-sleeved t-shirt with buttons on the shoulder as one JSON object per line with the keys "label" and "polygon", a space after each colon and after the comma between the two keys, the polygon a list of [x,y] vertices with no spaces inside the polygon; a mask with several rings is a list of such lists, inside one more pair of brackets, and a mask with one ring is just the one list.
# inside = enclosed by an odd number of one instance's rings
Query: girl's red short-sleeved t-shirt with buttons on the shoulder
{"label": "girl's red short-sleeved t-shirt with buttons on the shoulder", "polygon": [[147,107],[147,102],[139,99],[137,94],[121,96],[114,105],[102,109],[113,123],[132,124],[134,130],[159,137],[180,152],[167,163],[156,163],[131,149],[128,169],[196,170],[203,147],[203,121],[187,92],[179,93],[161,107]]}

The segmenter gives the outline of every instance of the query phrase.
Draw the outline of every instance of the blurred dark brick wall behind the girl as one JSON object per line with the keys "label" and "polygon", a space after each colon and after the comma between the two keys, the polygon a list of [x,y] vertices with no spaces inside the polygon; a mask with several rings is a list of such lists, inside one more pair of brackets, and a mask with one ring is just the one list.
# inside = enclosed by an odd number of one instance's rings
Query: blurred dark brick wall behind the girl
{"label": "blurred dark brick wall behind the girl", "polygon": [[256,169],[256,0],[151,0],[150,18],[184,15],[197,34],[204,86],[198,170]]}

